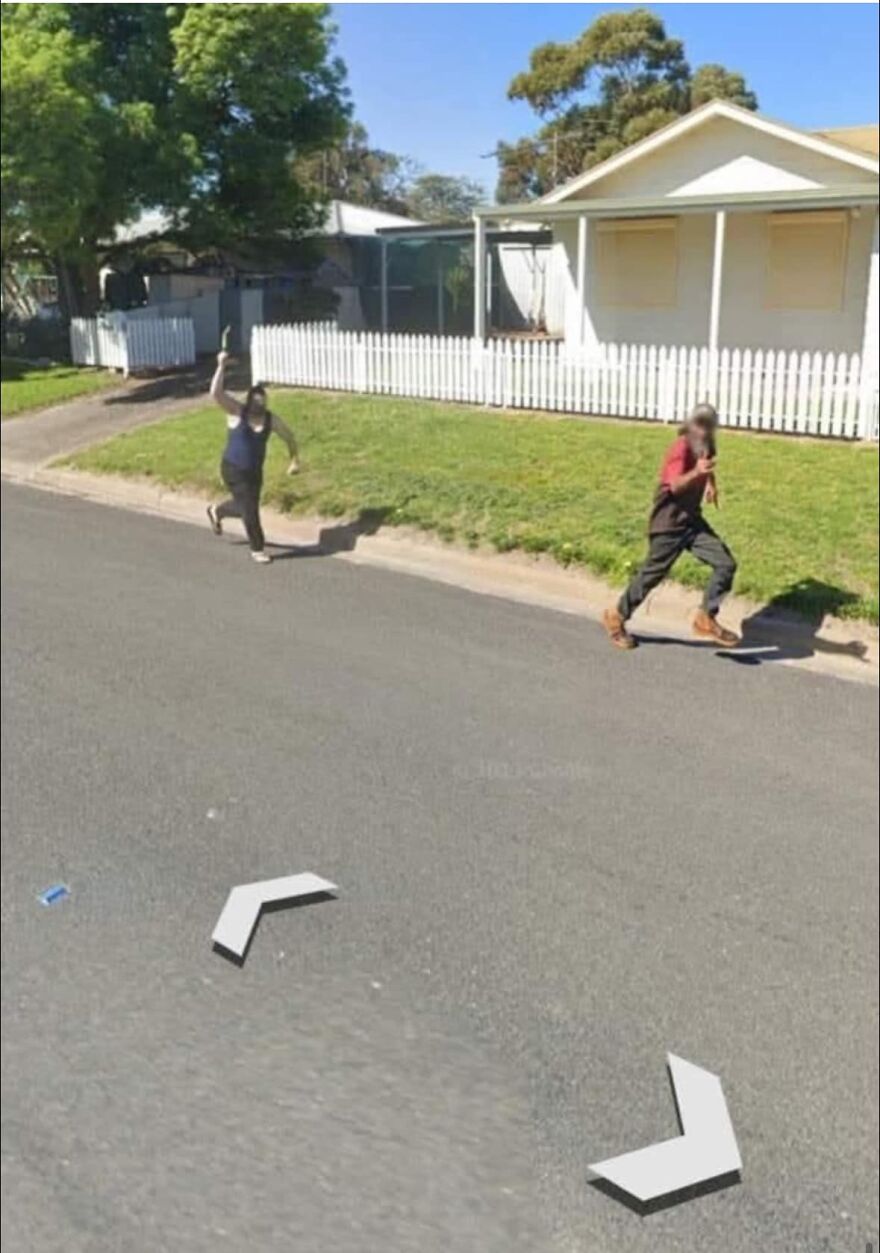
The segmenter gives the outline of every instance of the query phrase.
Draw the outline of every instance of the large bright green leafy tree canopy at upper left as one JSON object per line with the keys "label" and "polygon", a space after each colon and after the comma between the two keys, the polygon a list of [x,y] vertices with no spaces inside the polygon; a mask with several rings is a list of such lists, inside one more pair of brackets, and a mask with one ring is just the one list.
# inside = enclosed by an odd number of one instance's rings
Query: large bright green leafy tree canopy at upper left
{"label": "large bright green leafy tree canopy at upper left", "polygon": [[350,112],[326,5],[13,4],[1,33],[4,258],[75,277],[143,208],[194,247],[316,219],[295,158]]}

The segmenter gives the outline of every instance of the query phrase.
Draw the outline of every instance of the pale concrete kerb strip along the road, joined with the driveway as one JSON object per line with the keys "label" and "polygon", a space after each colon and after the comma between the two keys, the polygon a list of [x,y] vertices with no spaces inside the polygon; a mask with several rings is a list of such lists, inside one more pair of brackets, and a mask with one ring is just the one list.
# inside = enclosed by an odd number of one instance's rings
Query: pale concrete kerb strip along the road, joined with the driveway
{"label": "pale concrete kerb strip along the road, joined with the driveway", "polygon": [[[118,391],[84,396],[0,426],[3,476],[98,504],[155,514],[204,526],[206,499],[149,480],[115,479],[55,469],[50,462],[123,431],[162,421],[206,403],[209,362],[153,380],[130,380]],[[241,373],[241,367],[238,370]],[[233,390],[246,386],[233,370]],[[380,529],[369,515],[335,523],[291,519],[265,510],[266,533],[277,545],[320,549],[332,556],[454,584],[470,591],[504,596],[562,613],[597,619],[615,598],[614,589],[582,569],[564,569],[528,554],[470,551],[402,528]],[[234,526],[229,534],[236,534]],[[689,637],[698,605],[696,591],[674,583],[652,593],[636,619],[636,633],[671,639]],[[821,621],[771,613],[755,601],[731,596],[725,621],[745,637],[736,655],[741,664],[783,662],[840,678],[876,684],[880,645],[876,628],[830,615]],[[711,648],[711,644],[706,645]]]}

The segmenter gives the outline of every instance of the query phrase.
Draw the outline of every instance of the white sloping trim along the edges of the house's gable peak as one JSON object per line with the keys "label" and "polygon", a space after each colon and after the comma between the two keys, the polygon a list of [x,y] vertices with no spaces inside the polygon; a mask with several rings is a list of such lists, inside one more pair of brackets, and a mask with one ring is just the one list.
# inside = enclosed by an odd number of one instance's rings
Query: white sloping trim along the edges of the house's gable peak
{"label": "white sloping trim along the edges of the house's gable peak", "polygon": [[762,118],[760,114],[751,113],[748,109],[741,109],[740,105],[730,104],[727,100],[710,100],[708,104],[701,105],[693,113],[687,113],[683,118],[671,122],[668,127],[661,127],[659,130],[654,130],[646,139],[639,139],[638,143],[624,148],[622,153],[609,157],[608,160],[603,160],[599,165],[594,165],[585,174],[579,174],[578,178],[573,178],[562,187],[554,188],[554,190],[542,197],[538,204],[558,204],[559,200],[568,199],[584,187],[589,187],[600,178],[623,169],[624,165],[647,157],[648,153],[663,148],[666,144],[679,139],[681,135],[687,134],[696,127],[702,127],[713,118],[726,118],[730,122],[738,122],[742,125],[752,127],[755,130],[761,130],[766,135],[772,135],[775,139],[786,139],[790,143],[799,144],[801,148],[809,148],[811,152],[820,153],[822,157],[830,157],[847,165],[857,165],[859,169],[866,169],[875,174],[880,172],[880,163],[874,157],[854,152],[851,148],[844,148],[842,144],[831,143],[829,139],[820,139],[819,135],[810,135],[796,127],[787,127],[781,122],[771,122],[770,118]]}

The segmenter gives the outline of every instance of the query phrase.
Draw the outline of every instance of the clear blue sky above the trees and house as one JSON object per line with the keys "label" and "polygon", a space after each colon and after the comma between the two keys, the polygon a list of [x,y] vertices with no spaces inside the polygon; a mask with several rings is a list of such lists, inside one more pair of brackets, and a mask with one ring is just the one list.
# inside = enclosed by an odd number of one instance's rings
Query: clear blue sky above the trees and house
{"label": "clear blue sky above the trees and house", "polygon": [[[602,13],[594,4],[336,4],[338,51],[356,115],[374,144],[494,192],[499,139],[537,129],[506,86],[547,40],[570,40]],[[762,113],[795,125],[877,120],[874,4],[658,4],[691,65],[740,70]]]}

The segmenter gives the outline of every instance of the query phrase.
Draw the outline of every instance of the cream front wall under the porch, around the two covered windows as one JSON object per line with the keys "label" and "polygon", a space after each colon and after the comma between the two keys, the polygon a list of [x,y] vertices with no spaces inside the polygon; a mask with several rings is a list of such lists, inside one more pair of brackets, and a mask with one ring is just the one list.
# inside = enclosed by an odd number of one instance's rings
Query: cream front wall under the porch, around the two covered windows
{"label": "cream front wall under the porch, around the two covered windows", "polygon": [[[799,348],[861,351],[874,213],[862,209],[850,222],[842,307],[836,311],[780,311],[766,307],[767,216],[728,213],[721,297],[720,345],[728,348]],[[564,288],[565,340],[579,342],[577,293],[578,228],[554,228],[557,273]],[[674,306],[621,308],[599,302],[594,268],[594,232],[587,266],[584,342],[654,343],[702,347],[708,342],[715,217],[682,214],[678,222],[678,281]]]}

